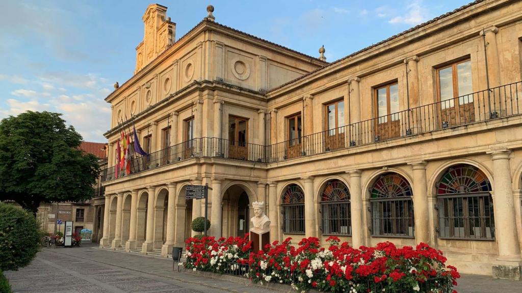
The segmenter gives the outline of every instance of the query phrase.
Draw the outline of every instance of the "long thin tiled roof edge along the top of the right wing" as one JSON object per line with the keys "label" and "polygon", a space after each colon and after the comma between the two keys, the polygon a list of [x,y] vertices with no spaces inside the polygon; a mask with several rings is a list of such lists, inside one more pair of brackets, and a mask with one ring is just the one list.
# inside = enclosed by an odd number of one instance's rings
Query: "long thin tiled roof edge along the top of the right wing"
{"label": "long thin tiled roof edge along the top of the right wing", "polygon": [[310,75],[314,74],[314,73],[317,72],[317,71],[321,71],[321,70],[323,70],[323,69],[325,69],[325,68],[328,68],[328,67],[330,67],[331,65],[337,64],[337,63],[341,62],[342,60],[346,60],[346,59],[348,59],[348,58],[351,58],[351,57],[357,56],[357,55],[359,55],[359,54],[361,54],[361,53],[363,53],[363,52],[365,52],[365,51],[370,50],[370,49],[373,48],[373,47],[376,47],[376,46],[382,45],[382,44],[384,44],[384,43],[387,43],[387,42],[389,42],[389,41],[392,41],[392,40],[394,40],[394,39],[397,39],[397,38],[399,38],[399,36],[405,35],[405,34],[410,33],[410,32],[412,32],[412,31],[416,31],[416,30],[418,30],[418,29],[420,29],[420,28],[423,28],[423,27],[425,27],[425,26],[430,25],[431,23],[433,23],[433,22],[435,22],[435,21],[441,20],[441,19],[443,19],[443,18],[445,18],[445,17],[448,17],[448,16],[450,16],[450,15],[453,15],[453,14],[455,14],[455,13],[461,11],[461,10],[464,10],[464,9],[466,9],[466,8],[468,8],[468,7],[471,7],[471,6],[473,6],[473,5],[479,4],[479,3],[484,2],[484,1],[486,1],[486,0],[476,0],[476,1],[473,1],[473,2],[468,3],[468,4],[466,4],[466,5],[463,5],[463,6],[457,8],[457,9],[455,9],[455,10],[453,10],[453,11],[450,11],[450,12],[448,12],[448,13],[445,13],[445,14],[443,14],[443,15],[441,15],[441,16],[437,16],[437,17],[435,17],[434,19],[431,19],[431,20],[428,20],[428,21],[426,21],[426,22],[423,22],[423,23],[421,23],[421,24],[418,25],[418,26],[415,26],[415,27],[413,27],[413,28],[410,28],[410,29],[408,29],[408,30],[405,30],[405,31],[403,31],[403,32],[401,32],[401,33],[398,33],[398,34],[396,34],[396,35],[390,36],[390,37],[389,37],[388,39],[386,39],[386,40],[383,40],[383,41],[378,42],[378,43],[376,43],[376,44],[373,44],[373,45],[371,45],[371,46],[367,46],[367,47],[365,47],[365,48],[363,48],[363,49],[361,49],[361,50],[359,50],[359,51],[357,51],[357,52],[354,52],[354,53],[352,53],[352,54],[350,54],[350,55],[348,55],[348,56],[342,57],[342,58],[340,58],[340,59],[338,59],[338,60],[336,60],[336,61],[334,61],[334,62],[332,62],[332,63],[329,63],[329,64],[327,64],[327,65],[325,65],[325,66],[323,66],[323,67],[321,67],[321,68],[317,68],[317,69],[315,69],[315,70],[313,70],[313,71],[311,71],[311,72],[309,72],[309,73],[307,73],[307,74],[305,74],[305,75],[302,75],[302,76],[300,76],[300,77],[298,77],[298,78],[296,78],[296,79],[293,79],[293,80],[290,80],[290,81],[288,81],[288,82],[286,82],[286,83],[283,83],[283,84],[281,84],[279,87],[273,88],[273,89],[269,90],[268,92],[272,92],[272,91],[278,90],[278,89],[280,89],[280,88],[286,87],[286,86],[288,86],[288,85],[291,84],[291,83],[294,83],[294,82],[296,82],[296,81],[298,81],[298,80],[301,80],[301,79],[303,79],[303,78],[305,78],[305,77],[307,77],[307,76],[310,76]]}

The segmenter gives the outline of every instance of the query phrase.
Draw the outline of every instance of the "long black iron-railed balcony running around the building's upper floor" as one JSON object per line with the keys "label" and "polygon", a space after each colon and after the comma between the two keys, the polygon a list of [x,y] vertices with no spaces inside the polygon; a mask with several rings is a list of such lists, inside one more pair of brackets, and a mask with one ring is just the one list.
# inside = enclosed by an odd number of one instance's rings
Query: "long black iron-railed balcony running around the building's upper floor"
{"label": "long black iron-railed balcony running around the building's upper floor", "polygon": [[[131,174],[193,157],[220,157],[257,163],[275,163],[519,115],[521,111],[522,82],[519,81],[271,145],[220,138],[196,138],[148,156],[133,158]],[[124,170],[120,170],[117,177],[122,176],[126,176]],[[102,170],[102,181],[115,178],[115,167]]]}

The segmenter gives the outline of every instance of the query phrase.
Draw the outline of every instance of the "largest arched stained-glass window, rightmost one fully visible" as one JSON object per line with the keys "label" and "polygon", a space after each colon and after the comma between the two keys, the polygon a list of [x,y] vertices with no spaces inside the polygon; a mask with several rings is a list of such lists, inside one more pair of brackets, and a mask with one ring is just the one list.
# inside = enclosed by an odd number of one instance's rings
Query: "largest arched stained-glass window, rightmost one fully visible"
{"label": "largest arched stained-glass window, rightmost one fully visible", "polygon": [[449,167],[436,184],[439,237],[495,239],[491,184],[467,164]]}

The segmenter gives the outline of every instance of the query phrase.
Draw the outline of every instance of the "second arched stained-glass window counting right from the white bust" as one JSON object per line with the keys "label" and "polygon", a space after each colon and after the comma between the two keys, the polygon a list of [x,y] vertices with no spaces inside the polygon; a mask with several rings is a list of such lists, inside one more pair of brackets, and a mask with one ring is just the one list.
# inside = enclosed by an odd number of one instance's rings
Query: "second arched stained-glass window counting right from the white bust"
{"label": "second arched stained-glass window counting right from the white bust", "polygon": [[350,191],[340,180],[326,182],[321,194],[324,235],[351,235]]}

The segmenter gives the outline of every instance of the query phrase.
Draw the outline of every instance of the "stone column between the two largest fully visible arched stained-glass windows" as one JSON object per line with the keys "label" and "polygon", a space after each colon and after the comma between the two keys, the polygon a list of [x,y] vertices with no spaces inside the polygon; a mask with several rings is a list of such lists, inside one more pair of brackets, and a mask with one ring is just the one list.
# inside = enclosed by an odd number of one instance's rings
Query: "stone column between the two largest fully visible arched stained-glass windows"
{"label": "stone column between the two largest fully visible arched stained-glass windows", "polygon": [[415,219],[415,241],[430,242],[428,211],[428,183],[426,182],[426,162],[410,164],[413,169],[413,217]]}

